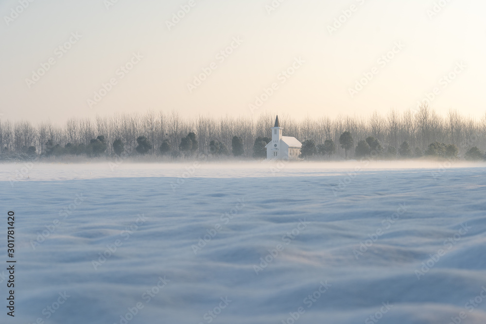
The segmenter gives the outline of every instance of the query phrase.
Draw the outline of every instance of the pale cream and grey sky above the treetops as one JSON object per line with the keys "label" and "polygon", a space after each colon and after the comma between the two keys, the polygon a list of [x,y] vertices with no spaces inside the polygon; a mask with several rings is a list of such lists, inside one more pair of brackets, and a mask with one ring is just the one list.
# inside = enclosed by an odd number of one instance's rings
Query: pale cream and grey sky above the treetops
{"label": "pale cream and grey sky above the treetops", "polygon": [[[486,111],[484,1],[284,0],[270,12],[272,0],[115,1],[0,1],[1,118],[385,114],[434,88],[440,113]],[[181,6],[190,10],[169,30]],[[210,75],[190,91],[203,68]]]}

